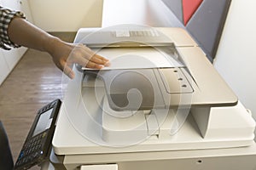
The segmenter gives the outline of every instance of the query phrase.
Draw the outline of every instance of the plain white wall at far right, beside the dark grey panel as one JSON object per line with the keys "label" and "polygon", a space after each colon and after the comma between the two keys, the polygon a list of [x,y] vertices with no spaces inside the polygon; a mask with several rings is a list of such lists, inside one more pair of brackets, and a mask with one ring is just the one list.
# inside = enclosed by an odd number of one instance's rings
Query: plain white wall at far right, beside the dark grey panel
{"label": "plain white wall at far right, beside the dark grey panel", "polygon": [[255,8],[255,0],[232,0],[214,66],[256,119]]}

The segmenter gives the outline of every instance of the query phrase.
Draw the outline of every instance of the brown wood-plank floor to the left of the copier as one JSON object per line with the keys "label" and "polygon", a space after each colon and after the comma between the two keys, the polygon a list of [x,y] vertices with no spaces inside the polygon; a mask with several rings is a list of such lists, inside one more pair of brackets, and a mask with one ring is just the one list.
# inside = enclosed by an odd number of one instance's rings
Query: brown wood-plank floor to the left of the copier
{"label": "brown wood-plank floor to the left of the copier", "polygon": [[[54,33],[73,42],[75,33]],[[49,54],[28,49],[0,86],[0,120],[9,136],[14,161],[20,153],[37,111],[54,99],[61,99],[62,72]]]}

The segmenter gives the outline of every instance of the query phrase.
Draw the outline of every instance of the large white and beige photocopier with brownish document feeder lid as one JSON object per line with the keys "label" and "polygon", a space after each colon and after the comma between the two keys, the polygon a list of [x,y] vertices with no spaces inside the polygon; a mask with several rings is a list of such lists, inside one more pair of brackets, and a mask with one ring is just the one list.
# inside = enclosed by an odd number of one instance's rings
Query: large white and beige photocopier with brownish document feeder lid
{"label": "large white and beige photocopier with brownish document feeder lid", "polygon": [[73,67],[42,169],[256,169],[252,115],[187,31],[81,28],[74,42],[111,64]]}

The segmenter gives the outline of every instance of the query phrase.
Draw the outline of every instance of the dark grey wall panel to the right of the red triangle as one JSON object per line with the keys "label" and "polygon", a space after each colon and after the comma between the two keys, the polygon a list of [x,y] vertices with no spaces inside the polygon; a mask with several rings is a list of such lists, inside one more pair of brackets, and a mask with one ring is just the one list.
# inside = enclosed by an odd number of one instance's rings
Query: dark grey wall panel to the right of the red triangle
{"label": "dark grey wall panel to the right of the red triangle", "polygon": [[204,0],[186,26],[212,61],[231,0]]}

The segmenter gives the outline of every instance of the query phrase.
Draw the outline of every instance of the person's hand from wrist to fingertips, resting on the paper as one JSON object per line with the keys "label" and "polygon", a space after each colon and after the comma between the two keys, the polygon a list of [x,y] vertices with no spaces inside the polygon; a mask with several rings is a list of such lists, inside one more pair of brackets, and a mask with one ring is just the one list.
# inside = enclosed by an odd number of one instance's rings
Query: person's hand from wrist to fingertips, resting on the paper
{"label": "person's hand from wrist to fingertips, resting on the paper", "polygon": [[108,59],[96,54],[83,44],[67,43],[55,39],[51,47],[49,54],[55,65],[70,78],[75,77],[72,70],[72,65],[75,63],[92,69],[102,69],[108,65]]}

